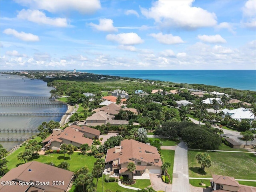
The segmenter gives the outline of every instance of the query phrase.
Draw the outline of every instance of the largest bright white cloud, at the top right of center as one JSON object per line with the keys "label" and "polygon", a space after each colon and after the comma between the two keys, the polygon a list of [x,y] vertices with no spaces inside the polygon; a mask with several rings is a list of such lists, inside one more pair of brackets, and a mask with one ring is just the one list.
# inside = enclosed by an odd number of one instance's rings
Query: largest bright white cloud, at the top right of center
{"label": "largest bright white cloud, at the top right of center", "polygon": [[147,18],[153,18],[162,27],[195,29],[217,24],[217,17],[200,7],[192,7],[194,0],[163,0],[152,3],[149,9],[141,8]]}

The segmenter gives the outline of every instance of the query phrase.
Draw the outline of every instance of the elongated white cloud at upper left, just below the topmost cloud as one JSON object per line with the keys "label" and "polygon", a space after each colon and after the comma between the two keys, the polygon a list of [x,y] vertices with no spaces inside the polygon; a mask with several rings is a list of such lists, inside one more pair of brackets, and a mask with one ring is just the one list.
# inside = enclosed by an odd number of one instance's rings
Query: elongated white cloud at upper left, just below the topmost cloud
{"label": "elongated white cloud at upper left, just below the topmost cloud", "polygon": [[66,18],[50,18],[46,17],[44,12],[41,12],[40,10],[25,10],[22,9],[18,15],[17,18],[28,20],[34,23],[38,24],[46,24],[46,25],[53,25],[56,27],[66,27],[68,26],[67,19]]}

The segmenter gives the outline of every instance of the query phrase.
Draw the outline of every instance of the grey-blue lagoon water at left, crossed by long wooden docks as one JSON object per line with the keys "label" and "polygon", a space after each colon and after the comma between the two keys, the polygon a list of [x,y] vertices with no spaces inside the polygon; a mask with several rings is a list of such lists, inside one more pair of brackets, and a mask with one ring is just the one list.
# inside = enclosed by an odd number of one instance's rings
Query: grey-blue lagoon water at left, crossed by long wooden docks
{"label": "grey-blue lagoon water at left, crossed by long wooden docks", "polygon": [[[22,79],[23,78],[23,79]],[[42,80],[30,80],[22,76],[0,74],[0,96],[47,96],[52,87]],[[67,106],[1,106],[0,113],[66,112]],[[61,117],[0,116],[0,129],[36,129],[42,122],[60,121]],[[36,133],[0,133],[1,138],[31,137]],[[0,142],[10,150],[21,142]]]}

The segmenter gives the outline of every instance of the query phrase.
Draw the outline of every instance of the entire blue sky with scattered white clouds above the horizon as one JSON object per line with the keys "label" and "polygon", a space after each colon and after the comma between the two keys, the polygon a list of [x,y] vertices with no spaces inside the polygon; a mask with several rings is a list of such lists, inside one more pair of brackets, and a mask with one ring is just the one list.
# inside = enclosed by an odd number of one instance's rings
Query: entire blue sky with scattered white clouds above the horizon
{"label": "entire blue sky with scattered white clouds above the horizon", "polygon": [[0,69],[256,69],[256,1],[1,0]]}

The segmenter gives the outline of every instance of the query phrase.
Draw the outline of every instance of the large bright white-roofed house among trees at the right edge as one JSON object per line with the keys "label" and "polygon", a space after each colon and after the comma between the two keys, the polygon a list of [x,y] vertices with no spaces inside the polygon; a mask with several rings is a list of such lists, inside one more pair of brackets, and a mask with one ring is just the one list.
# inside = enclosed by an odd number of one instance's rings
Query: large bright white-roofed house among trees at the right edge
{"label": "large bright white-roofed house among trees at the right edge", "polygon": [[224,109],[222,110],[222,112],[224,112],[225,116],[229,115],[232,119],[239,120],[239,121],[241,121],[242,119],[250,119],[250,120],[255,119],[255,116],[252,113],[252,111],[243,107],[238,109],[233,109],[233,110]]}

